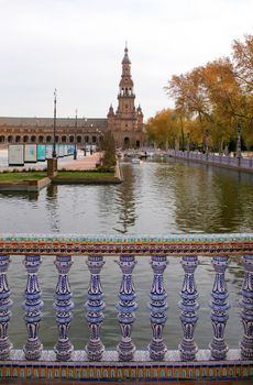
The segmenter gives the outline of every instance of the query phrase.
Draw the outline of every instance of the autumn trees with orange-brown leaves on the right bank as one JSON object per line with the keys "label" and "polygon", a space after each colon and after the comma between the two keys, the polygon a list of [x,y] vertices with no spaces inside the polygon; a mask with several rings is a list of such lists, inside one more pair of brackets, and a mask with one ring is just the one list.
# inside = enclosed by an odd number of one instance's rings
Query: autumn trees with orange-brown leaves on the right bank
{"label": "autumn trees with orange-brown leaves on the right bank", "polygon": [[[222,57],[174,75],[165,87],[175,100],[175,110],[169,113],[180,122],[177,135],[188,134],[204,151],[207,144],[216,151],[234,150],[239,122],[245,147],[253,148],[253,36],[234,41],[232,48],[232,58]],[[161,142],[163,130],[158,131]],[[173,135],[166,131],[163,138]]]}

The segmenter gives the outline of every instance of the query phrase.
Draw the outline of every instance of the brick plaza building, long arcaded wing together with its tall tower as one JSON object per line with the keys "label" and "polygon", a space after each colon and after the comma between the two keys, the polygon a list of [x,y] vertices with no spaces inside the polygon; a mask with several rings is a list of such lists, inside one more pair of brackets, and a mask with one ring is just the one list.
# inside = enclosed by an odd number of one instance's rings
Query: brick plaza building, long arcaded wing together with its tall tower
{"label": "brick plaza building, long arcaded wing together with its tall tower", "polygon": [[[106,132],[110,131],[117,147],[140,147],[144,142],[143,113],[135,108],[131,62],[128,47],[122,59],[122,75],[116,112],[112,106],[107,118],[57,118],[55,142],[85,147],[100,145]],[[14,143],[53,144],[54,119],[52,118],[10,118],[0,117],[0,147]]]}

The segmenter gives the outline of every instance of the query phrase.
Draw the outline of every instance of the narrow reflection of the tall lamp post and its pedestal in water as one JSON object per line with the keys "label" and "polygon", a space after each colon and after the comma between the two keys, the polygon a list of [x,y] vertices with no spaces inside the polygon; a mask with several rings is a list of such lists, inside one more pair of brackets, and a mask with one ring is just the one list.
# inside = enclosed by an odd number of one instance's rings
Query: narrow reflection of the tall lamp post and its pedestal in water
{"label": "narrow reflection of the tall lamp post and its pedestal in water", "polygon": [[59,213],[57,202],[58,186],[51,184],[46,188],[46,210],[50,216],[51,230],[59,231]]}

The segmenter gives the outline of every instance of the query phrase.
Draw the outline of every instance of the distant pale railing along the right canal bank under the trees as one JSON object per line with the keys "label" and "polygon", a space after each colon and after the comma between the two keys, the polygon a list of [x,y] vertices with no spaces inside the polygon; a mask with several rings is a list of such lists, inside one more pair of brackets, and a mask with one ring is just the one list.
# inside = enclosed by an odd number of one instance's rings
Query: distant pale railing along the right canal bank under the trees
{"label": "distant pale railing along the right canal bank under the trees", "polygon": [[167,154],[172,157],[184,158],[194,162],[200,162],[212,165],[226,166],[229,168],[237,168],[243,170],[253,172],[253,158],[252,157],[231,157],[216,154],[202,154],[191,151],[176,151],[168,150]]}

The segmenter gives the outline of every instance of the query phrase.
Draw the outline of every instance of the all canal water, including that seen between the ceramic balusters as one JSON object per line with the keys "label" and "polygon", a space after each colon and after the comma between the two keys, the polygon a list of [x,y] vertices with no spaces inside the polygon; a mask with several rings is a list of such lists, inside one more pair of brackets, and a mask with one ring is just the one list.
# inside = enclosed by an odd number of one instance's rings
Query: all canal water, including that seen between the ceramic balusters
{"label": "all canal water, including that seen between the ceramic balusters", "polygon": [[[122,163],[121,169],[124,178],[121,185],[50,186],[40,194],[1,193],[0,232],[168,234],[253,231],[253,175],[174,160],[140,165]],[[22,310],[26,274],[22,260],[12,257],[8,275],[14,301],[9,336],[15,348],[21,348],[26,338]],[[45,349],[52,348],[57,339],[52,310],[57,279],[53,260],[43,257],[38,274],[44,300],[40,336]],[[101,273],[107,305],[102,341],[108,349],[114,349],[120,339],[116,304],[121,274],[114,260],[107,257]],[[204,349],[212,338],[209,301],[213,268],[210,258],[200,257],[199,261],[196,282],[200,309],[195,337]],[[84,349],[89,336],[84,310],[89,284],[85,262],[86,257],[75,256],[69,273],[75,302],[70,339],[75,349]],[[227,271],[231,309],[226,338],[231,348],[238,348],[243,332],[239,314],[242,277],[241,263],[233,258]],[[165,271],[169,308],[164,330],[168,349],[177,349],[182,338],[177,302],[183,278],[179,258],[169,258]],[[148,257],[138,257],[133,280],[139,302],[133,340],[138,349],[145,349],[151,338],[147,302],[152,271]]]}

